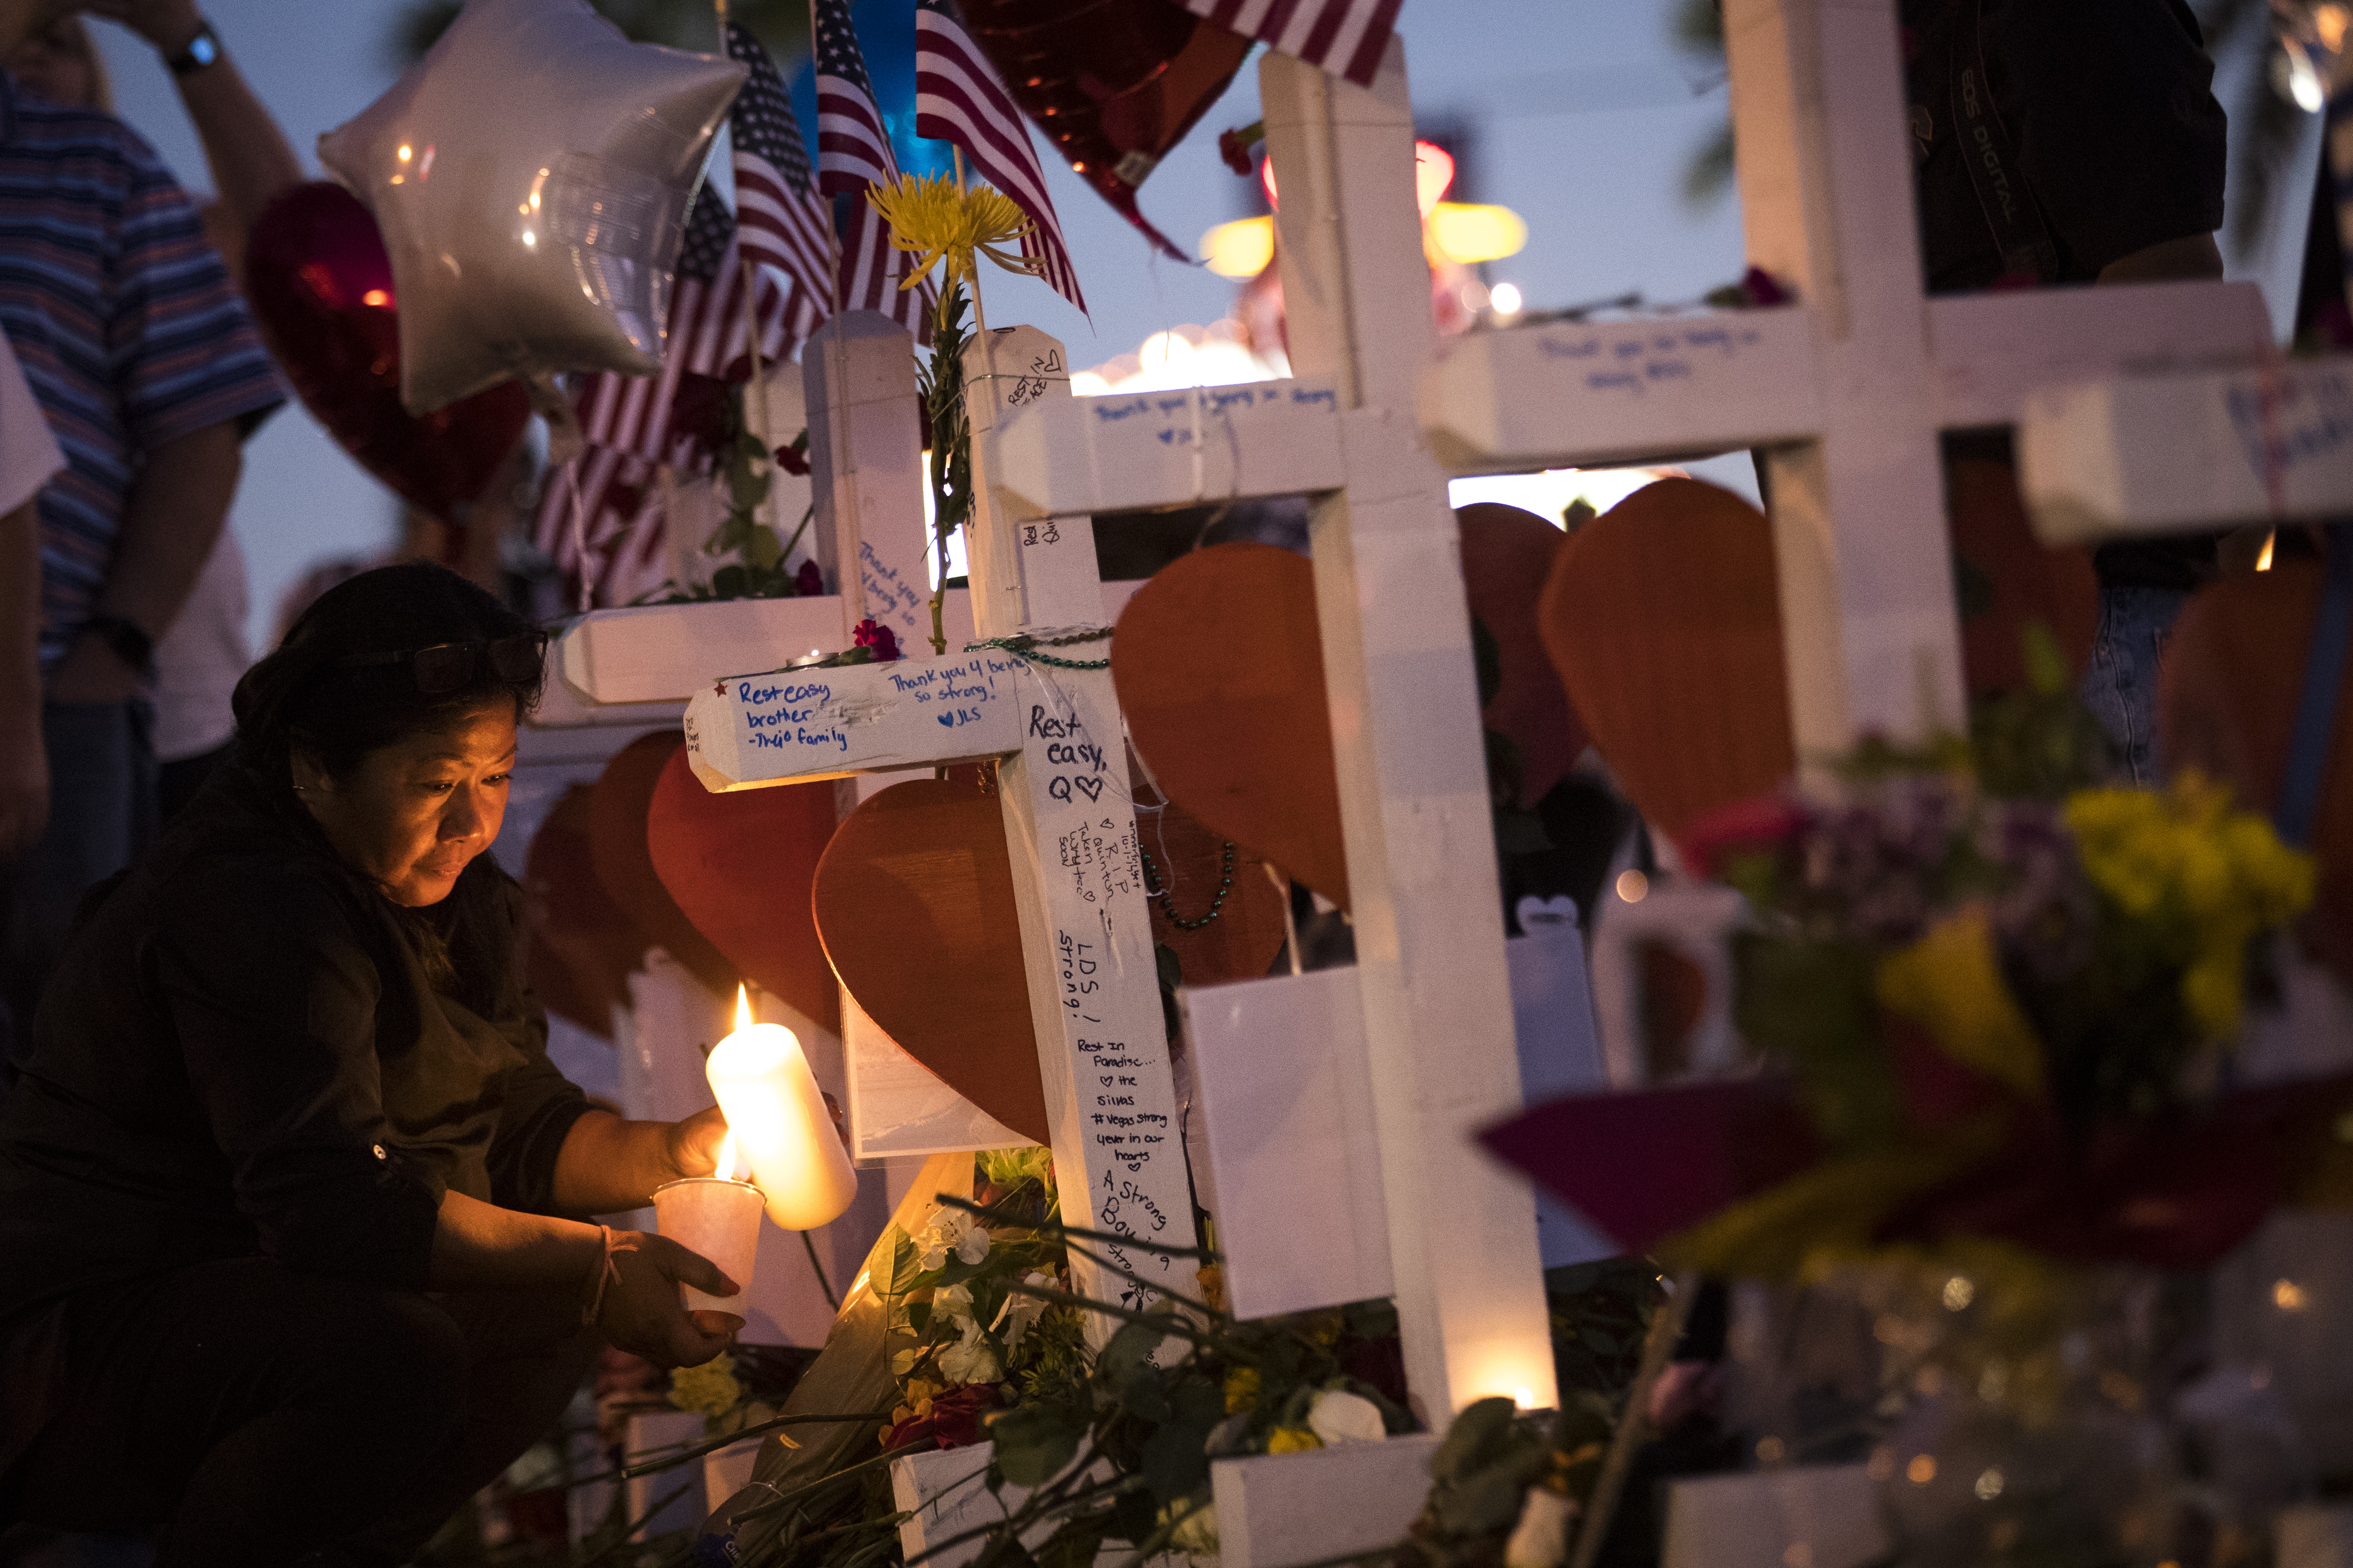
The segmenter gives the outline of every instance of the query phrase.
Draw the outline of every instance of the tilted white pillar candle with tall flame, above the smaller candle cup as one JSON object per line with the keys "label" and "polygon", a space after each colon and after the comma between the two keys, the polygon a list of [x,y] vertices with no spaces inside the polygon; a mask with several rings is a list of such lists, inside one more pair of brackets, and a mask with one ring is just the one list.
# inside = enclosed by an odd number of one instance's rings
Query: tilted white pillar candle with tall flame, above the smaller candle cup
{"label": "tilted white pillar candle with tall flame, above the smaller candle cup", "polygon": [[736,987],[736,1030],[711,1048],[704,1072],[727,1114],[729,1138],[751,1164],[753,1185],[767,1197],[769,1220],[784,1229],[816,1229],[849,1208],[859,1173],[833,1131],[800,1037],[784,1025],[753,1023],[744,987]]}

